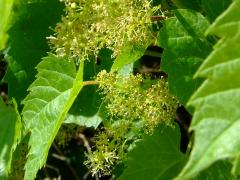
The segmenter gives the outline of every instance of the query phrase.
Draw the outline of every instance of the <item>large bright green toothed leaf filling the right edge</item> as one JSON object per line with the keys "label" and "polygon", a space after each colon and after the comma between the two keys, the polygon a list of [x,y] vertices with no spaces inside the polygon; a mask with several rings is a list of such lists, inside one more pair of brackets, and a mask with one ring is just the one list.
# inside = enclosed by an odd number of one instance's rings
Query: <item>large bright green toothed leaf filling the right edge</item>
{"label": "large bright green toothed leaf filling the right edge", "polygon": [[[239,175],[240,154],[240,1],[208,29],[221,40],[196,73],[207,78],[189,101],[195,107],[195,144],[178,179],[190,179],[218,160],[230,158]],[[236,170],[236,171],[235,171]]]}

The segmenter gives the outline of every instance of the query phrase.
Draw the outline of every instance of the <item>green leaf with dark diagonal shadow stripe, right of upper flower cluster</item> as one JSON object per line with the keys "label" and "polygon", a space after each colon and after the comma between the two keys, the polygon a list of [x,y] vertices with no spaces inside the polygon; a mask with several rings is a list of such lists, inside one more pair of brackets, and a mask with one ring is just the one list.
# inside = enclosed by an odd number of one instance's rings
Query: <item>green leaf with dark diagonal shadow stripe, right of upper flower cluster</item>
{"label": "green leaf with dark diagonal shadow stripe, right of upper flower cluster", "polygon": [[174,14],[163,22],[157,43],[164,48],[161,68],[168,74],[169,89],[185,105],[201,83],[193,75],[211,50],[204,37],[209,23],[195,11],[175,10]]}

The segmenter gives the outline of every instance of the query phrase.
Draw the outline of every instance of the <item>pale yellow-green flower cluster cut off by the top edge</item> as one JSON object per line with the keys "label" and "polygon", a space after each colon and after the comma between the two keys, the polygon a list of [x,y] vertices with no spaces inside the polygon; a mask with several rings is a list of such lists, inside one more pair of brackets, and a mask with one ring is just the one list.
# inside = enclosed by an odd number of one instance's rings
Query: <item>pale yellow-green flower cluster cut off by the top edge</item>
{"label": "pale yellow-green flower cluster cut off by the top edge", "polygon": [[152,16],[161,13],[148,0],[62,0],[66,15],[48,37],[59,56],[97,57],[107,47],[116,57],[126,44],[146,47],[153,42]]}

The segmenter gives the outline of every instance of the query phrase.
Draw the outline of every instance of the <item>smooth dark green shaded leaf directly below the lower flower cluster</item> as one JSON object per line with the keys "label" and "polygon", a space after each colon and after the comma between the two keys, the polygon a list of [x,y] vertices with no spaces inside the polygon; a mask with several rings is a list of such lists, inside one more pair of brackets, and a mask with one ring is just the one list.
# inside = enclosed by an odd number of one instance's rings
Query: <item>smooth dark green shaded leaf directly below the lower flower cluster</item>
{"label": "smooth dark green shaded leaf directly below the lower flower cluster", "polygon": [[179,150],[177,127],[158,127],[127,155],[127,168],[119,180],[166,180],[178,174],[186,161]]}

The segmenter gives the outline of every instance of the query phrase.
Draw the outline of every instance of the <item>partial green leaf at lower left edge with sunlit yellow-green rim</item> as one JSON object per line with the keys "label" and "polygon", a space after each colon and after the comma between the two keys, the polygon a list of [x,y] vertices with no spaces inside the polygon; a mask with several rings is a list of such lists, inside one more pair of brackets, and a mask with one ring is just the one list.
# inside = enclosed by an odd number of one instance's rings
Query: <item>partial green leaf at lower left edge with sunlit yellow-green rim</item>
{"label": "partial green leaf at lower left edge with sunlit yellow-green rim", "polygon": [[4,179],[10,172],[13,151],[21,138],[22,126],[17,108],[7,107],[1,97],[0,124],[0,179]]}

